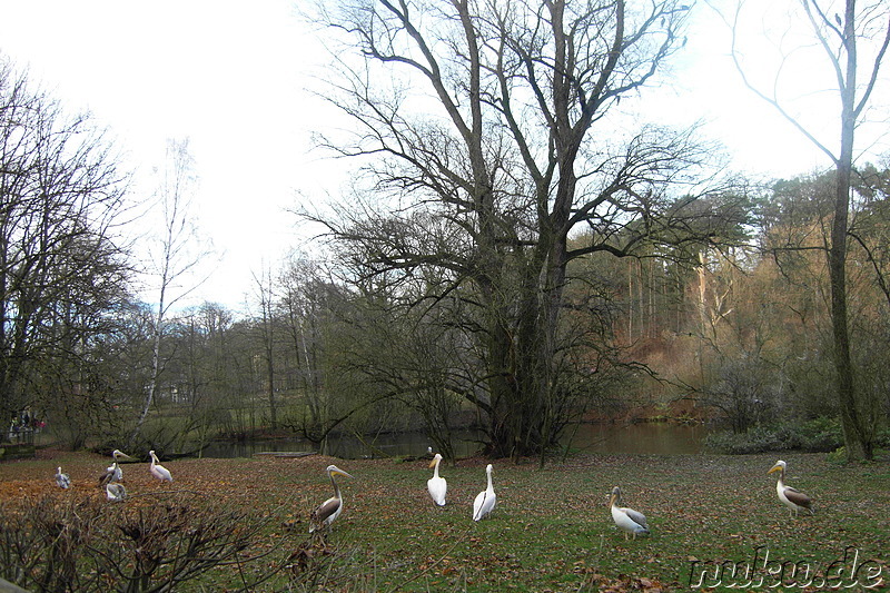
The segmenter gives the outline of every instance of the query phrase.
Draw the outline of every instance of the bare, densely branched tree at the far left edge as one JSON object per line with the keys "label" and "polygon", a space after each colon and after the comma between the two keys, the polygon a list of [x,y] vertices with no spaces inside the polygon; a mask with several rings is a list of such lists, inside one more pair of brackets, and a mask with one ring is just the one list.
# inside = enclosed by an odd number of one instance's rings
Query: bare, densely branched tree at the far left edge
{"label": "bare, densely branched tree at the far left edge", "polygon": [[125,298],[127,254],[117,233],[125,189],[110,145],[90,119],[67,117],[0,60],[4,422],[36,403],[39,380],[52,376],[53,389],[77,388],[90,339],[108,330],[105,314]]}

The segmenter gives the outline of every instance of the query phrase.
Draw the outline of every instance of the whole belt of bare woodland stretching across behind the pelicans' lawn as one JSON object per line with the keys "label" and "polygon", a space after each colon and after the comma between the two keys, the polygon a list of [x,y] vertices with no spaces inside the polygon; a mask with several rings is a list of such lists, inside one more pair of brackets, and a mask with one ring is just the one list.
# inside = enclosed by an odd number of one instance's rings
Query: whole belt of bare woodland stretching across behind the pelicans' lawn
{"label": "whole belt of bare woodland stretching across behind the pelicans' lawn", "polygon": [[[4,438],[27,411],[71,448],[423,429],[448,457],[472,425],[488,455],[543,459],[580,421],[843,421],[872,455],[890,414],[887,162],[764,182],[713,162],[696,130],[597,141],[682,49],[680,2],[444,2],[416,21],[408,4],[324,14],[364,61],[340,65],[330,95],[354,135],[322,144],[359,159],[365,184],[325,211],[295,205],[325,257],[256,278],[250,315],[171,297],[200,257],[178,210],[186,146],[171,144],[161,289],[145,303],[103,138],[0,66]],[[434,116],[373,88],[387,78],[368,72],[398,68]]]}

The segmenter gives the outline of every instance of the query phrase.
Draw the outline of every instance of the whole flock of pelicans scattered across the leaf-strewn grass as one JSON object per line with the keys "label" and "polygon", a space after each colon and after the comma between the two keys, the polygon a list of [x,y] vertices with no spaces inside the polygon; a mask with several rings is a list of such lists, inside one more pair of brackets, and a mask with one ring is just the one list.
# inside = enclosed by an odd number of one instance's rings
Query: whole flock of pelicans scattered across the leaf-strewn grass
{"label": "whole flock of pelicans scattered across the leaf-strewn grass", "polygon": [[[161,482],[172,482],[172,475],[170,474],[169,470],[160,464],[158,456],[155,455],[155,452],[149,451],[148,455],[151,458],[149,473]],[[120,468],[118,462],[120,459],[132,459],[132,457],[118,449],[115,449],[113,453],[111,453],[111,457],[112,463],[99,476],[99,484],[100,486],[105,486],[106,497],[109,501],[122,501],[127,497],[127,491],[123,488],[123,485],[120,484],[120,481],[123,477],[123,471]],[[433,470],[433,477],[426,482],[426,488],[429,492],[429,496],[433,498],[433,502],[438,506],[444,506],[445,496],[448,492],[448,483],[438,474],[438,467],[441,463],[442,455],[436,453],[433,456],[433,461],[429,462],[429,467],[434,467],[435,470]],[[780,459],[775,462],[775,465],[773,465],[769,472],[767,472],[768,474],[780,472],[779,480],[775,484],[775,492],[779,495],[779,500],[789,507],[794,516],[798,516],[800,511],[809,511],[810,514],[813,514],[812,500],[802,492],[785,485],[784,482],[787,466],[788,464]],[[322,503],[315,511],[313,511],[309,517],[309,533],[319,532],[324,527],[327,527],[329,531],[330,524],[334,523],[338,516],[340,516],[340,513],[343,513],[343,494],[340,493],[340,487],[334,476],[339,475],[353,477],[350,474],[344,472],[336,465],[328,465],[326,472],[330,478],[330,484],[334,486],[334,496]],[[476,498],[473,501],[473,521],[481,521],[487,516],[492,511],[494,511],[495,504],[497,503],[497,495],[495,494],[494,485],[492,484],[492,464],[488,464],[488,466],[485,468],[485,474],[487,475],[488,484],[487,487],[479,492],[476,495]],[[71,486],[70,477],[68,474],[62,473],[61,467],[59,467],[56,473],[56,483],[62,488],[68,488]],[[649,534],[649,525],[646,524],[645,515],[639,511],[634,511],[633,508],[621,506],[621,488],[617,486],[612,488],[609,505],[612,510],[612,520],[615,522],[615,525],[619,527],[619,530],[624,532],[625,540],[627,540],[631,535],[633,535],[633,538],[636,540],[637,535]]]}

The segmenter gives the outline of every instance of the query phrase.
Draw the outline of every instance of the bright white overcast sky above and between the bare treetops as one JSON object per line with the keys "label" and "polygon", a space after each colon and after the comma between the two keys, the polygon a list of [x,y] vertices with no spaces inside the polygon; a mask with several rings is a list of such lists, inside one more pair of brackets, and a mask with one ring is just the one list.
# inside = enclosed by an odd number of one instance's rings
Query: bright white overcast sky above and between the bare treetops
{"label": "bright white overcast sky above and between the bare treetops", "polygon": [[[337,192],[343,164],[312,151],[312,131],[329,113],[310,92],[325,51],[295,6],[0,0],[0,55],[70,112],[89,110],[107,126],[141,179],[162,164],[167,139],[189,139],[198,224],[222,254],[194,299],[239,308],[251,277],[305,239],[286,213],[298,192],[318,200]],[[793,176],[828,167],[742,87],[725,31],[710,9],[696,10],[701,20],[674,67],[681,82],[650,93],[645,112],[704,118],[740,169]]]}

